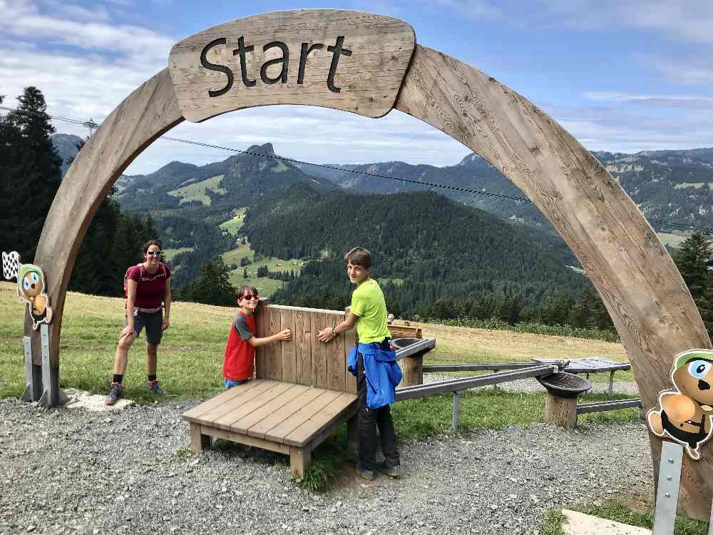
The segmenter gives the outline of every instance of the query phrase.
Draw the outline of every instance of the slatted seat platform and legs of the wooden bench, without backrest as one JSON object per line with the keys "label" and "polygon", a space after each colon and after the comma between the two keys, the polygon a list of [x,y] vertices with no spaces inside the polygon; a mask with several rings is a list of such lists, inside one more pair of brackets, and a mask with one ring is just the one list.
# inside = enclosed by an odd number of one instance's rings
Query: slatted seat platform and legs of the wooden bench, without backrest
{"label": "slatted seat platform and legs of the wooden bench, without backrest", "polygon": [[347,422],[356,447],[356,394],[270,379],[232,387],[183,414],[194,452],[210,447],[210,437],[289,455],[299,477],[312,449]]}

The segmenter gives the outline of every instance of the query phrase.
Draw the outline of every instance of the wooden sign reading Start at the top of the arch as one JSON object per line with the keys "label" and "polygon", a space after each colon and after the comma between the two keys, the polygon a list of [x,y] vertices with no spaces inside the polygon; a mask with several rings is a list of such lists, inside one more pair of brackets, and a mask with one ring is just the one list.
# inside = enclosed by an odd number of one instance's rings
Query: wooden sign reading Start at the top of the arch
{"label": "wooden sign reading Start at the top of the arch", "polygon": [[357,11],[282,11],[221,24],[173,46],[183,116],[301,103],[381,117],[416,46],[410,24]]}

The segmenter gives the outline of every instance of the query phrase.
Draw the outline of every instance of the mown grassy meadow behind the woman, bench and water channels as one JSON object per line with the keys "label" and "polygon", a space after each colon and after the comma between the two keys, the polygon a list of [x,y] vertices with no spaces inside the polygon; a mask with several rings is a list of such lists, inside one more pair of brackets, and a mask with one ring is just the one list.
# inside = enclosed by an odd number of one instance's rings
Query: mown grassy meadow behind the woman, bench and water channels
{"label": "mown grassy meadow behind the woman, bench and water channels", "polygon": [[[123,326],[124,300],[116,297],[96,297],[68,292],[62,324],[61,382],[63,387],[104,393],[111,379],[113,355],[118,333]],[[225,342],[235,308],[214,307],[197,303],[176,302],[171,310],[171,326],[159,352],[159,375],[169,392],[182,397],[201,398],[217,394],[222,389],[221,369]],[[22,326],[24,305],[18,302],[15,285],[0,282],[0,397],[19,396],[24,388],[22,364]],[[200,318],[197,321],[196,318]],[[620,344],[577,338],[527,335],[507,331],[488,331],[463,327],[421,324],[424,335],[436,337],[436,349],[426,354],[425,364],[458,362],[507,362],[528,360],[530,357],[583,357],[599,355],[625,360]],[[145,352],[143,336],[135,343],[129,356],[125,378],[126,396],[138,402],[155,399],[145,389]],[[592,376],[606,380],[606,374]],[[629,372],[617,372],[620,380],[630,380]],[[438,401],[438,400],[441,401]],[[597,397],[593,397],[597,399]],[[420,407],[424,414],[417,422],[426,428],[446,429],[450,424],[448,396],[404,402],[397,411],[409,412],[409,407]],[[519,407],[501,410],[501,407]],[[442,406],[441,406],[442,405]],[[430,409],[429,409],[430,407]],[[472,407],[472,410],[471,408]],[[470,392],[463,400],[461,422],[465,428],[484,425],[498,426],[510,422],[494,415],[500,412],[507,418],[527,422],[541,418],[541,394],[507,394],[482,389]],[[445,411],[445,412],[443,412]],[[596,414],[607,419],[621,418],[615,411]],[[405,421],[406,419],[404,419]],[[498,423],[499,422],[499,423]],[[414,428],[406,435],[418,435]]]}

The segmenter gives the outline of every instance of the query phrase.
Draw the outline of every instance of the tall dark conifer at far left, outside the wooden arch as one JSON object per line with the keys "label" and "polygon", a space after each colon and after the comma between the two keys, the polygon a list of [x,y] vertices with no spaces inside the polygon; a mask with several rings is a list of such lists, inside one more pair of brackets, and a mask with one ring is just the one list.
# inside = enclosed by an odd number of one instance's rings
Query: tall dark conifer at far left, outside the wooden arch
{"label": "tall dark conifer at far left, outside the wooden arch", "polygon": [[34,259],[47,213],[61,180],[61,158],[50,136],[54,127],[42,92],[25,88],[19,105],[2,121],[0,159],[4,202],[1,250],[16,250],[24,263]]}

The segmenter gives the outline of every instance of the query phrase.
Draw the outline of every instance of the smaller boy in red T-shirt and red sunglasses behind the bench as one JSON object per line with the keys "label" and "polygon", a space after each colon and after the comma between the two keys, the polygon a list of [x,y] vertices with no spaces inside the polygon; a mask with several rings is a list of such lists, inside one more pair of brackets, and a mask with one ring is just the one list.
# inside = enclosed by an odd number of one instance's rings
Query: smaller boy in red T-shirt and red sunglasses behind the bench
{"label": "smaller boy in red T-shirt and red sunglasses behind the bench", "polygon": [[225,388],[235,387],[252,378],[255,372],[255,347],[287,341],[292,337],[289,329],[282,330],[277,335],[257,338],[255,325],[255,308],[259,296],[255,286],[243,286],[235,295],[240,312],[230,325],[230,335],[225,346],[223,361],[223,377]]}

